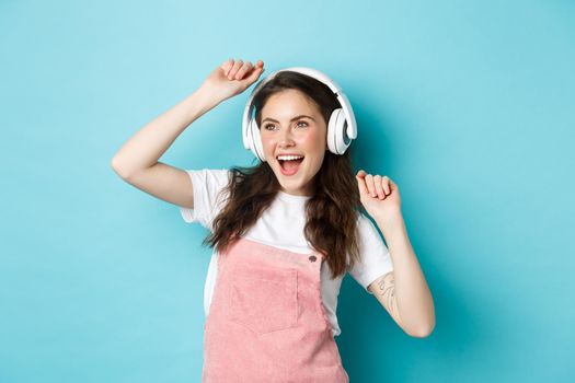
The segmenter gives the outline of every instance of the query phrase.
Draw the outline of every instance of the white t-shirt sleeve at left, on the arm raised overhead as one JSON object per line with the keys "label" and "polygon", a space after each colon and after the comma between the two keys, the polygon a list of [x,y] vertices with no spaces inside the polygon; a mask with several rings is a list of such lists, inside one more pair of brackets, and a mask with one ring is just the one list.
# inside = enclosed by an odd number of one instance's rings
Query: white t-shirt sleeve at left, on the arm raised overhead
{"label": "white t-shirt sleeve at left, on the arm raised overhead", "polygon": [[[180,207],[180,213],[185,222],[199,222],[212,231],[212,221],[227,200],[222,189],[228,185],[231,172],[221,170],[186,170],[194,189],[194,209]],[[220,193],[222,192],[222,193]]]}

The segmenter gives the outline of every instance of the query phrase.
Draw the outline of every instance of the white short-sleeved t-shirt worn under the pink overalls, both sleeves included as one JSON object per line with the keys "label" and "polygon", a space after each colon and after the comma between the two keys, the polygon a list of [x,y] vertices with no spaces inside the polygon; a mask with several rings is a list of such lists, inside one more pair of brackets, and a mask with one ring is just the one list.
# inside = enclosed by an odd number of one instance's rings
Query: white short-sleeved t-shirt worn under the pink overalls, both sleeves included
{"label": "white short-sleeved t-shirt worn under the pink overalls, both sleeves included", "polygon": [[[194,209],[180,207],[185,222],[199,222],[204,228],[212,231],[214,218],[225,206],[227,195],[218,193],[228,184],[231,176],[229,170],[186,170],[192,179],[194,189]],[[306,225],[304,205],[310,197],[295,196],[278,192],[276,199],[262,213],[256,223],[244,234],[244,237],[288,249],[295,253],[310,254],[311,246],[303,235]],[[359,214],[359,254],[360,262],[356,262],[348,269],[349,275],[367,290],[367,287],[380,276],[393,270],[393,264],[379,232],[371,221],[363,213]],[[204,288],[204,312],[209,312],[216,276],[218,272],[218,252],[214,249],[208,267]],[[337,324],[337,295],[344,276],[331,278],[331,270],[326,262],[321,267],[321,291],[325,313],[332,325],[333,336],[341,334]]]}

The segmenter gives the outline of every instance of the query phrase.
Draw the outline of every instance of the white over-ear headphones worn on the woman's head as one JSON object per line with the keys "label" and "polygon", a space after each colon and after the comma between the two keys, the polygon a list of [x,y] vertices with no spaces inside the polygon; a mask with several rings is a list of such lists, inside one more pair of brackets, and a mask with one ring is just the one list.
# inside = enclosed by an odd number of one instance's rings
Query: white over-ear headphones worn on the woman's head
{"label": "white over-ear headphones worn on the woman's head", "polygon": [[291,67],[272,72],[254,88],[250,98],[248,100],[245,109],[243,111],[242,137],[244,148],[251,150],[262,162],[266,161],[264,156],[264,148],[262,146],[262,138],[260,136],[260,129],[257,127],[257,123],[255,121],[255,116],[253,116],[254,106],[252,101],[254,95],[266,82],[272,80],[277,73],[288,70],[308,74],[323,82],[325,85],[330,86],[332,92],[335,94],[342,107],[334,109],[330,116],[330,121],[327,123],[327,148],[334,154],[345,153],[352,143],[352,140],[357,138],[357,125],[355,121],[354,111],[352,109],[352,104],[349,104],[349,100],[347,100],[347,96],[342,92],[342,89],[335,83],[335,81],[317,69],[306,67]]}

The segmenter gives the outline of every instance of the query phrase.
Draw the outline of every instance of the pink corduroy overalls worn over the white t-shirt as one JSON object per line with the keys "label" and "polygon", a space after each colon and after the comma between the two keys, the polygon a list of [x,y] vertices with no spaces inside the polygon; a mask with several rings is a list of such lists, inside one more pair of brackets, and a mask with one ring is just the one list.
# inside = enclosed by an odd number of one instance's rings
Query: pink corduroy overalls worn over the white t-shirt
{"label": "pink corduroy overalls worn over the white t-shirt", "polygon": [[349,382],[321,300],[322,262],[244,237],[220,254],[202,382]]}

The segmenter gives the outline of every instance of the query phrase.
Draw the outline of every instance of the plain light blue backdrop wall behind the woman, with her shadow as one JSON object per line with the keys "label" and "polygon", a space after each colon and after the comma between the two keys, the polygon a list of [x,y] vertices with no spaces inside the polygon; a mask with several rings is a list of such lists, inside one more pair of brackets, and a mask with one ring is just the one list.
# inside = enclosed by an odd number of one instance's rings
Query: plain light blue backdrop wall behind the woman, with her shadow
{"label": "plain light blue backdrop wall behind the woman, with her shadow", "polygon": [[[352,382],[575,376],[574,1],[0,1],[0,382],[198,382],[207,231],[111,169],[228,58],[348,95],[356,169],[399,184],[437,326],[346,276]],[[246,92],[162,162],[252,164]]]}

